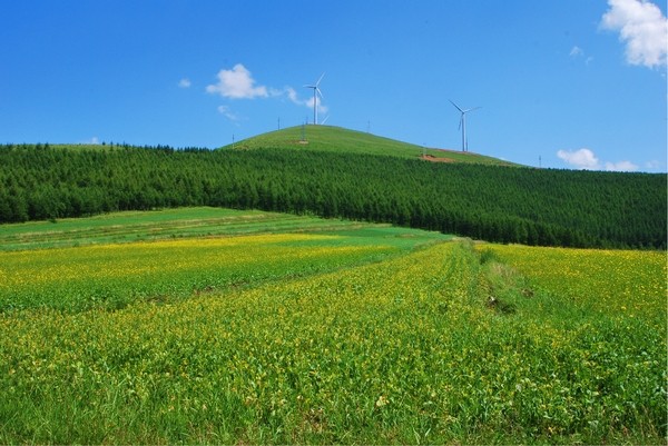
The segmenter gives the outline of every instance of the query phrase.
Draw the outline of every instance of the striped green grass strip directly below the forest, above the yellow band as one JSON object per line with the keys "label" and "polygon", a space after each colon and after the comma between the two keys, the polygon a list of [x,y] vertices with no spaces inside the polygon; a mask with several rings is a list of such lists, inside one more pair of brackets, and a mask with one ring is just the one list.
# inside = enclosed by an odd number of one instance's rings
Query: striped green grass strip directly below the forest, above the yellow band
{"label": "striped green grass strip directly below the forest, above the yellow band", "polygon": [[[327,232],[376,230],[390,225],[367,225],[259,210],[190,207],[154,211],[105,214],[86,219],[65,218],[4,225],[0,251],[67,248],[98,244],[151,241],[174,238],[238,236],[266,232]],[[394,228],[396,235],[402,229]],[[425,231],[406,231],[422,234]],[[431,234],[435,237],[434,234]],[[441,237],[441,236],[439,236]]]}

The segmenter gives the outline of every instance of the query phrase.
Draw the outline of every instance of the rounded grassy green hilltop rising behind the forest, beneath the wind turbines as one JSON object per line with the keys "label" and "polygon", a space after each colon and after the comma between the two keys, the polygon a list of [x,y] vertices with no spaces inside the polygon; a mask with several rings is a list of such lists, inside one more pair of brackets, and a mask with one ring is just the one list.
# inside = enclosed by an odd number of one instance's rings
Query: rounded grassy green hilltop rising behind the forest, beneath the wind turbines
{"label": "rounded grassy green hilltop rising behind the forest, beneath the wind turbines", "polygon": [[336,153],[364,153],[424,159],[434,162],[471,162],[493,166],[518,166],[472,152],[441,150],[383,138],[362,131],[332,126],[299,126],[244,139],[224,149],[293,149]]}

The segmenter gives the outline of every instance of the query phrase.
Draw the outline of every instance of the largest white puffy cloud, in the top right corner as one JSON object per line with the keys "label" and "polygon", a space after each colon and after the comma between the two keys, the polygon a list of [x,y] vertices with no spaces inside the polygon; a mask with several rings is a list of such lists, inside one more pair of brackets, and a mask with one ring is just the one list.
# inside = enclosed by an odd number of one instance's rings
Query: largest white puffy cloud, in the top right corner
{"label": "largest white puffy cloud, in the top right corner", "polygon": [[666,66],[668,20],[655,3],[647,0],[608,0],[601,28],[619,31],[626,43],[626,59],[649,68]]}

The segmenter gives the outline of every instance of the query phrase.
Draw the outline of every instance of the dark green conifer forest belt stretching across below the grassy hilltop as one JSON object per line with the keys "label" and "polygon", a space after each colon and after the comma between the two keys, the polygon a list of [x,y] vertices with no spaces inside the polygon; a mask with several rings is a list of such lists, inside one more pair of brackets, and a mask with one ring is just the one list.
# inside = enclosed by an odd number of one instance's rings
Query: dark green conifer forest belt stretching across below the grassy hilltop
{"label": "dark green conifer forest belt stretching across below the grassy hilltop", "polygon": [[666,175],[308,150],[0,146],[0,222],[215,206],[500,242],[666,248]]}

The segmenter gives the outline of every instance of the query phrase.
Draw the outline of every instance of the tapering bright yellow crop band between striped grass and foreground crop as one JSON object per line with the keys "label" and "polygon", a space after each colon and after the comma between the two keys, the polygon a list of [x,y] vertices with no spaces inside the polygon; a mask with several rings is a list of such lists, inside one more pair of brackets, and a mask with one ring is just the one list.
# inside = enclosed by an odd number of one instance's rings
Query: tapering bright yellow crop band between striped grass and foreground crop
{"label": "tapering bright yellow crop band between striped grass and foreground crop", "polygon": [[0,308],[117,309],[330,270],[397,249],[356,241],[278,234],[0,252]]}

